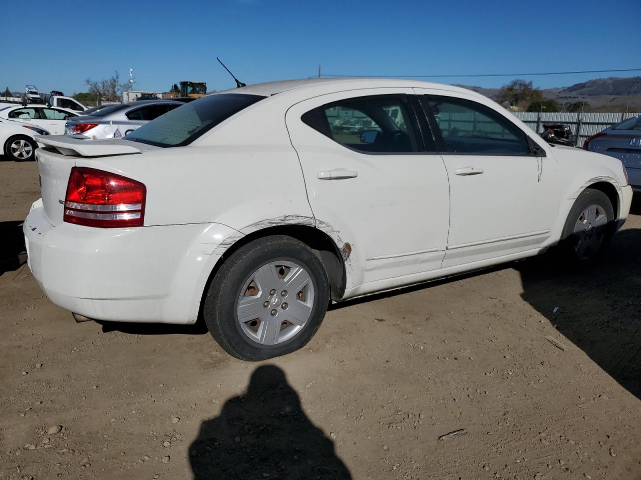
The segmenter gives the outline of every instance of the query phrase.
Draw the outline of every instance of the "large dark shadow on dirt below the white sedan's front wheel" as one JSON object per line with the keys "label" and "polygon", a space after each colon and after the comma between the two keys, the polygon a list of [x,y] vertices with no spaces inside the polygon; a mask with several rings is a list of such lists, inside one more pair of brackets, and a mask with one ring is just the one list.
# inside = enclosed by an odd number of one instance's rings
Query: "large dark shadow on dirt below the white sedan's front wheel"
{"label": "large dark shadow on dirt below the white sedan's front wheel", "polygon": [[639,399],[640,246],[641,230],[635,228],[617,233],[603,262],[592,269],[560,268],[553,255],[513,264],[523,300]]}

